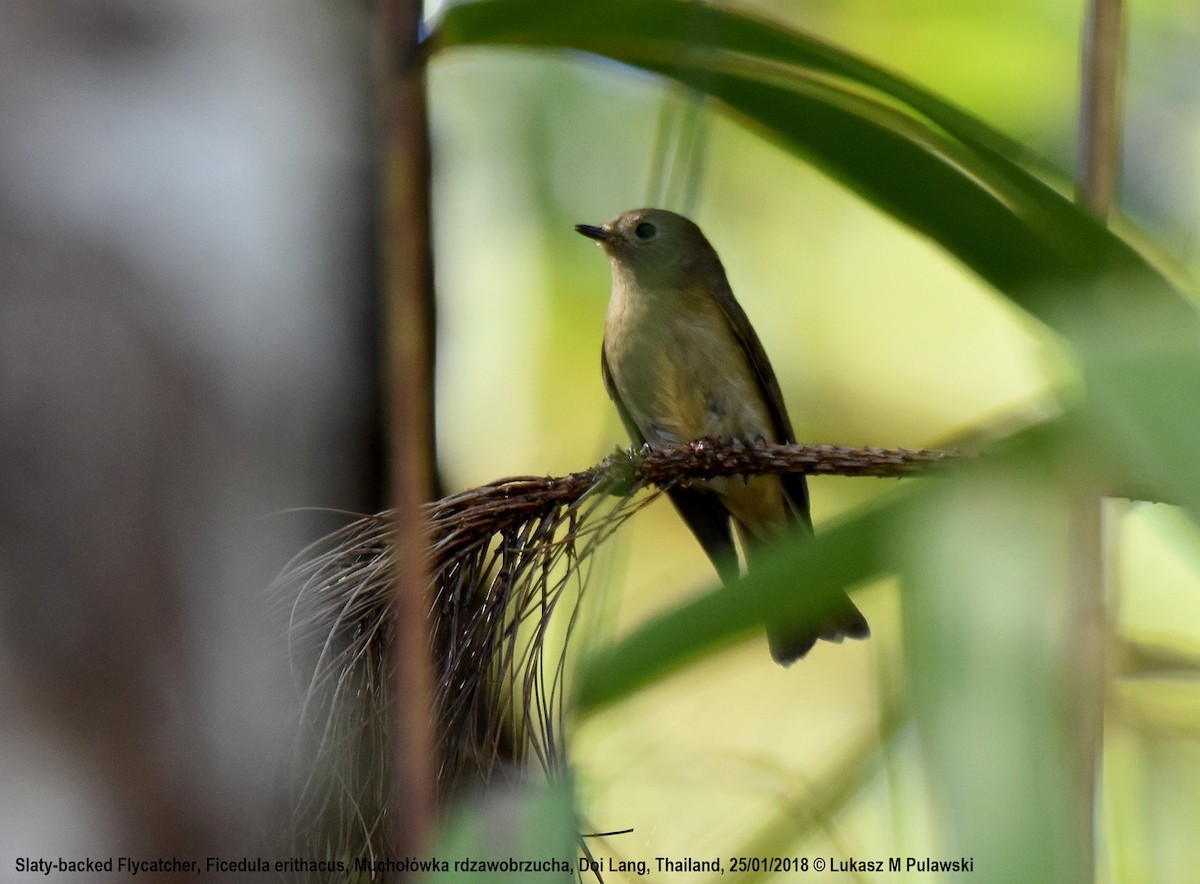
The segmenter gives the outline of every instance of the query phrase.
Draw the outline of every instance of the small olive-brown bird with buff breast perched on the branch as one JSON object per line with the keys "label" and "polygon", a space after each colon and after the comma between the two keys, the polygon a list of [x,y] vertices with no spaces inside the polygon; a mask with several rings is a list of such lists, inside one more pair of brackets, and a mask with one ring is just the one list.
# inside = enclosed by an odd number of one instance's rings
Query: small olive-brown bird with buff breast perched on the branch
{"label": "small olive-brown bird with buff breast perched on the branch", "polygon": [[[762,343],[696,224],[664,209],[634,209],[602,227],[575,229],[596,240],[612,265],[600,362],[635,445],[703,438],[796,441]],[[812,531],[802,474],[708,479],[670,495],[726,583],[738,576],[731,518],[748,563],[761,542],[790,528]],[[767,626],[770,655],[784,666],[818,638],[869,635],[845,594],[818,625]]]}

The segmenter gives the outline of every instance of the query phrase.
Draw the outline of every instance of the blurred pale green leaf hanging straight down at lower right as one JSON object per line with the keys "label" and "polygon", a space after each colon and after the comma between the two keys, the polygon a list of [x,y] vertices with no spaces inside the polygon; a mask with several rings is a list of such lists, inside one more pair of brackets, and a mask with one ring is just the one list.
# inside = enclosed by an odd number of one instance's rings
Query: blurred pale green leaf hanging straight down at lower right
{"label": "blurred pale green leaf hanging straight down at lower right", "polygon": [[930,483],[896,525],[906,685],[947,852],[972,880],[1078,880],[1069,493],[1032,449]]}

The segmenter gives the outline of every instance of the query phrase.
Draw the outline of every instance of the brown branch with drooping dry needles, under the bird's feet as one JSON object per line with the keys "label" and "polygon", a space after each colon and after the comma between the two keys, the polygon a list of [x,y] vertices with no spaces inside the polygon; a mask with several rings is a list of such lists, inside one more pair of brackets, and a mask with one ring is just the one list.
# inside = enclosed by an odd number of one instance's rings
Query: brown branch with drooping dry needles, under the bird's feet
{"label": "brown branch with drooping dry needles, under the bird's feet", "polygon": [[[432,651],[437,786],[516,775],[533,759],[563,770],[565,650],[592,554],[659,492],[713,476],[803,471],[907,476],[956,459],[941,451],[702,440],[617,451],[566,476],[517,476],[424,507],[426,606],[404,613],[406,635]],[[295,796],[298,842],[341,854],[383,849],[395,825],[388,772],[389,655],[401,635],[394,512],[362,517],[304,551],[281,577],[292,605],[292,647],[304,700],[305,775]],[[553,618],[566,599],[562,618]],[[415,625],[412,623],[415,620]],[[566,638],[554,638],[553,621]],[[554,633],[559,635],[559,633]],[[414,710],[409,710],[410,712]]]}

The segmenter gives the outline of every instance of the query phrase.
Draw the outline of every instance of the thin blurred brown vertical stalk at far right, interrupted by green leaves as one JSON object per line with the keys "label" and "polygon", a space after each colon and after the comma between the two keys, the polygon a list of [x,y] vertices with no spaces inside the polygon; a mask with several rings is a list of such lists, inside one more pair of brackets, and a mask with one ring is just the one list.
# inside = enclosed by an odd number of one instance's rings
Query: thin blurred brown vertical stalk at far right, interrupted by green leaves
{"label": "thin blurred brown vertical stalk at far right, interrupted by green leaves", "polygon": [[[1081,44],[1079,113],[1080,205],[1108,217],[1116,199],[1121,164],[1121,72],[1124,54],[1122,0],[1088,0]],[[1072,587],[1066,660],[1072,668],[1079,824],[1079,880],[1096,877],[1097,801],[1103,772],[1104,700],[1109,668],[1105,578],[1110,537],[1104,501],[1094,483],[1075,495],[1072,530]]]}

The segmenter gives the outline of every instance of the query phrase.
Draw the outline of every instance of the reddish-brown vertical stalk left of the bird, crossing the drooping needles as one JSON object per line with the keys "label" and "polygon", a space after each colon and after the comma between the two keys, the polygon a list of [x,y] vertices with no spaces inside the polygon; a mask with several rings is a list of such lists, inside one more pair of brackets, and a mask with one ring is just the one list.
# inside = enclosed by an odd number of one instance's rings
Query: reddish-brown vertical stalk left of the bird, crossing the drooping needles
{"label": "reddish-brown vertical stalk left of the bird, crossing the drooping needles", "polygon": [[430,133],[421,1],[380,0],[383,205],[380,257],[390,413],[388,449],[395,507],[396,593],[389,642],[394,855],[425,852],[437,820],[434,675],[430,638],[427,527],[434,497],[434,296]]}

